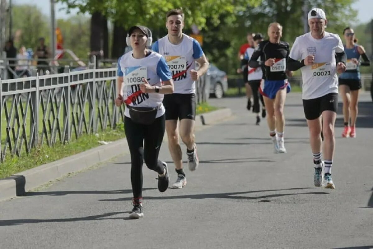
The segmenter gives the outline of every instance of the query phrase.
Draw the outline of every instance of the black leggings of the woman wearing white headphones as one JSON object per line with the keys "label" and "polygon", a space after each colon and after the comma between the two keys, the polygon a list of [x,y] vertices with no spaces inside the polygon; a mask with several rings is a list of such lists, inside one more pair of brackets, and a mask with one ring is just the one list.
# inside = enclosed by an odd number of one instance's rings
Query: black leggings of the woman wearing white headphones
{"label": "black leggings of the woman wearing white headphones", "polygon": [[142,164],[150,170],[163,174],[164,167],[158,160],[165,129],[164,115],[152,124],[134,123],[125,117],[124,129],[131,153],[131,184],[134,198],[142,197]]}

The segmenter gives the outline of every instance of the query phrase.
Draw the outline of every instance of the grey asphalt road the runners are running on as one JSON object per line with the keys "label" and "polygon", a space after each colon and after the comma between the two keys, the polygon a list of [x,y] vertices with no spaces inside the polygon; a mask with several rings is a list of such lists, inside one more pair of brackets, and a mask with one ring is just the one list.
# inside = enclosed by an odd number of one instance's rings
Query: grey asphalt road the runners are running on
{"label": "grey asphalt road the runners are running on", "polygon": [[[210,103],[232,108],[233,116],[197,130],[200,167],[185,170],[184,189],[159,193],[156,173],[144,166],[144,218],[127,218],[132,190],[126,154],[0,202],[0,248],[373,248],[368,94],[360,98],[357,138],[341,138],[338,115],[335,190],[313,186],[299,94],[286,101],[287,154],[273,153],[265,120],[255,125],[244,98]],[[160,159],[175,181],[166,142]]]}

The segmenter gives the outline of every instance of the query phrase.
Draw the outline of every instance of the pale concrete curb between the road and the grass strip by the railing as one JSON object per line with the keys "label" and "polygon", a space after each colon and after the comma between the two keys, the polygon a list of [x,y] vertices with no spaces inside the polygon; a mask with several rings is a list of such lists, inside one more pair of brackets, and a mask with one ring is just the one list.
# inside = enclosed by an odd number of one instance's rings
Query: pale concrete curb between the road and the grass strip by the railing
{"label": "pale concrete curb between the road and the grass strip by the railing", "polygon": [[[225,108],[196,116],[196,127],[212,124],[231,116],[231,109]],[[165,134],[165,138],[167,135]],[[69,173],[89,168],[97,163],[110,160],[128,151],[127,140],[120,139],[107,145],[101,145],[70,157],[44,164],[16,175],[0,179],[0,201],[16,196],[24,196],[31,189],[49,181],[56,180]]]}

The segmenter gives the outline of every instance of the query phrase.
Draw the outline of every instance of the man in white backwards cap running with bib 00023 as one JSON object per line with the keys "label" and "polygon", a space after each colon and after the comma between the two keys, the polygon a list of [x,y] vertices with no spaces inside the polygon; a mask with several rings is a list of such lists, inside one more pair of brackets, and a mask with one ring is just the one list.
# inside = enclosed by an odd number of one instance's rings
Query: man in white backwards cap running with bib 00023
{"label": "man in white backwards cap running with bib 00023", "polygon": [[[314,185],[335,189],[331,169],[335,146],[334,125],[338,107],[337,72],[343,73],[346,70],[346,54],[341,38],[337,34],[325,32],[326,24],[326,15],[322,9],[310,10],[308,13],[310,32],[295,39],[288,67],[290,70],[302,71],[303,109],[310,131],[315,168]],[[321,131],[324,136],[323,142]],[[322,145],[324,161],[321,159]]]}

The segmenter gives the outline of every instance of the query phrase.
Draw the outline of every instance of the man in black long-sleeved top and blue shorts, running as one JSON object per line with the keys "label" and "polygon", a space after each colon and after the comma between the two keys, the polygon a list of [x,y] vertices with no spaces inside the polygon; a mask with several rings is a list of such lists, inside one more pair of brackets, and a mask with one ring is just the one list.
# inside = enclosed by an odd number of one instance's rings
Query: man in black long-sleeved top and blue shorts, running
{"label": "man in black long-sleeved top and blue shorts, running", "polygon": [[[263,71],[259,91],[264,96],[269,135],[272,138],[275,153],[286,153],[283,139],[285,128],[283,109],[286,94],[290,92],[287,74],[291,72],[286,69],[289,44],[280,41],[282,26],[277,22],[268,26],[268,36],[269,40],[259,43],[259,47],[250,58],[249,66],[261,67]],[[258,62],[259,57],[260,61]]]}

